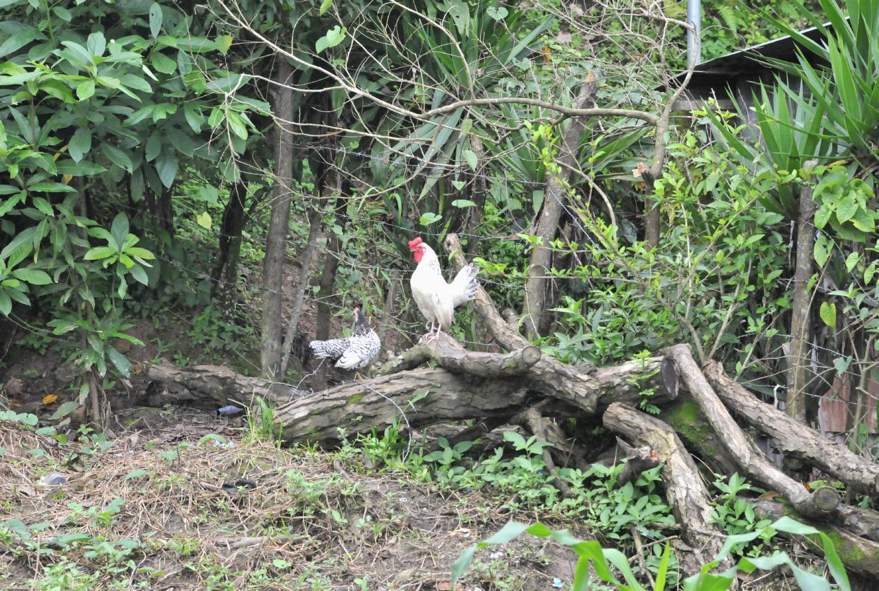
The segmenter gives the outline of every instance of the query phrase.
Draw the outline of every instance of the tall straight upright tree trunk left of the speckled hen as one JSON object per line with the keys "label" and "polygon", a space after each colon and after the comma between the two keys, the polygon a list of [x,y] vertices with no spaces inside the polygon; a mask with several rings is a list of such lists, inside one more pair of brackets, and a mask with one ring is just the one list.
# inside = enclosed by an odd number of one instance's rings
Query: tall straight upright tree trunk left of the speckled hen
{"label": "tall straight upright tree trunk left of the speckled hen", "polygon": [[275,169],[272,187],[272,217],[265,237],[263,263],[263,321],[260,363],[266,379],[280,378],[281,362],[281,278],[287,258],[287,229],[290,201],[293,196],[293,136],[285,121],[294,120],[293,68],[285,58],[278,60],[275,80],[279,83],[274,97]]}

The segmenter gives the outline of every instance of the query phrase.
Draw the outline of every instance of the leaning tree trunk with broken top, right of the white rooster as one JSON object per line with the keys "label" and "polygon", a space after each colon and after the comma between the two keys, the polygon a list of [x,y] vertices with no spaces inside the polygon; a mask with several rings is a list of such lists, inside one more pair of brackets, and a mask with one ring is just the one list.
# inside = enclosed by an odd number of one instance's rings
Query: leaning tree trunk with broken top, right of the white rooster
{"label": "leaning tree trunk with broken top, right of the white rooster", "polygon": [[[598,86],[598,78],[595,77],[594,72],[590,71],[580,86],[576,108],[594,107]],[[558,159],[561,168],[552,172],[547,181],[541,216],[537,221],[535,231],[538,241],[534,244],[534,250],[531,251],[531,258],[528,261],[528,278],[525,282],[525,306],[522,310],[522,318],[525,321],[528,338],[533,339],[539,336],[540,318],[543,314],[543,304],[546,298],[546,277],[548,276],[549,261],[552,257],[552,242],[556,239],[556,233],[559,229],[563,200],[567,198],[565,192],[569,186],[570,169],[577,163],[580,136],[583,135],[585,125],[585,119],[582,117],[570,120],[570,125],[562,134],[562,141],[559,144]]]}

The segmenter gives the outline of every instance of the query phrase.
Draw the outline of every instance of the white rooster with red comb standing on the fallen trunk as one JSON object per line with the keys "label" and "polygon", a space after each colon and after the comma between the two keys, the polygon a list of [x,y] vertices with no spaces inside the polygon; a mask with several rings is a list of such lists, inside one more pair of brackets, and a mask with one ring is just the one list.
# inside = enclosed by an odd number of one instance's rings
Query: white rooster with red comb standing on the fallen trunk
{"label": "white rooster with red comb standing on the fallen trunk", "polygon": [[[443,328],[452,325],[454,308],[476,297],[476,273],[479,269],[470,263],[458,271],[454,281],[449,284],[442,276],[436,253],[420,237],[409,241],[409,249],[418,263],[410,279],[412,298],[430,325],[427,333],[430,340],[437,338]],[[434,326],[437,330],[435,335]]]}

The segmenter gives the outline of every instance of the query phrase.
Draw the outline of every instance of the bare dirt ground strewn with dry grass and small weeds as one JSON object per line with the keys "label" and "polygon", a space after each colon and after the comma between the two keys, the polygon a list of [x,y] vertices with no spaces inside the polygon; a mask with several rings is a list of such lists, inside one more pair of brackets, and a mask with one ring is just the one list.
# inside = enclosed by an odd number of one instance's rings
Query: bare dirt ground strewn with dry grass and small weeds
{"label": "bare dirt ground strewn with dry grass and small weeds", "polygon": [[[366,470],[354,447],[280,450],[195,411],[127,422],[108,443],[0,422],[0,587],[446,590],[461,551],[536,519]],[[64,483],[46,486],[53,474]],[[536,541],[486,549],[461,588],[551,589],[574,559]]]}

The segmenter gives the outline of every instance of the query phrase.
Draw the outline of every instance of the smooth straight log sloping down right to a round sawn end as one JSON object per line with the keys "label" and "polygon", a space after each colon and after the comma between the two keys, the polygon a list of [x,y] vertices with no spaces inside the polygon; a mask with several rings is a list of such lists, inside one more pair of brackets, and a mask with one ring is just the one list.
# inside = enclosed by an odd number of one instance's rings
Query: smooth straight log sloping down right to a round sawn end
{"label": "smooth straight log sloping down right to a round sawn end", "polygon": [[840,501],[836,490],[830,486],[821,486],[810,493],[801,483],[776,468],[745,436],[702,375],[688,345],[674,345],[668,348],[667,353],[678,364],[683,385],[699,404],[711,427],[716,433],[723,434],[721,442],[743,472],[780,493],[802,515],[827,518],[836,510]]}

